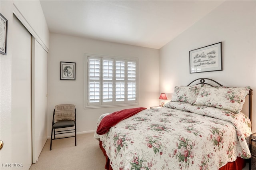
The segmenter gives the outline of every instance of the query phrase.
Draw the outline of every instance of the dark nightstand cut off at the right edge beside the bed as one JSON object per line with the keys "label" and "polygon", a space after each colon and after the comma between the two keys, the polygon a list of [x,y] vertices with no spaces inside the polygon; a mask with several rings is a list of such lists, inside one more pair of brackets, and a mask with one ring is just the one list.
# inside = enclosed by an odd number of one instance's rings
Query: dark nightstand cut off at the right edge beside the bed
{"label": "dark nightstand cut off at the right edge beside the bed", "polygon": [[249,170],[256,169],[256,133],[250,135],[250,151],[252,154],[252,158],[249,164]]}

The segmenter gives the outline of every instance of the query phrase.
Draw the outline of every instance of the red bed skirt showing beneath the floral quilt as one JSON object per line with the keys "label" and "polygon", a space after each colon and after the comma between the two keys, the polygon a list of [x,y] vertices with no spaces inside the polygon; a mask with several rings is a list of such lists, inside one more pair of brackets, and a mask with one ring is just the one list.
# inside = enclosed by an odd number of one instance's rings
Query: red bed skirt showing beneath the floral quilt
{"label": "red bed skirt showing beneath the floral quilt", "polygon": [[[106,170],[113,170],[110,165],[110,160],[106,154],[106,150],[102,146],[102,141],[100,141],[100,149],[102,150],[104,156],[106,157]],[[246,160],[240,157],[237,157],[236,161],[228,162],[225,166],[222,166],[219,170],[242,170],[246,165]]]}

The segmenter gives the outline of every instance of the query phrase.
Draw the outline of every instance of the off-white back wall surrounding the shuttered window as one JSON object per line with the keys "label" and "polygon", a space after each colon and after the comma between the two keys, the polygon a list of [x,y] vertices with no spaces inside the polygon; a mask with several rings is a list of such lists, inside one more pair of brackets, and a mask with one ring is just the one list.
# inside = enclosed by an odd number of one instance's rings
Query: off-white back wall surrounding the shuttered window
{"label": "off-white back wall surrounding the shuttered window", "polygon": [[[60,34],[50,34],[48,57],[48,125],[52,122],[54,106],[72,103],[77,110],[77,131],[96,130],[96,122],[103,113],[129,107],[84,109],[84,53],[139,59],[139,106],[159,104],[159,54],[158,49],[102,42]],[[76,80],[60,80],[60,61],[76,62]],[[48,126],[50,136],[51,127]]]}

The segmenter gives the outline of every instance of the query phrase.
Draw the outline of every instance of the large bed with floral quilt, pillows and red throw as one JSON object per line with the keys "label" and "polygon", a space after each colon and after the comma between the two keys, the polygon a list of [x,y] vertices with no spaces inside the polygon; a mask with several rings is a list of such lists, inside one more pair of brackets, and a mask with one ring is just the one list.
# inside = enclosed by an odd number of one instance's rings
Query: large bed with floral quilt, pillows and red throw
{"label": "large bed with floral quilt, pillows and red throw", "polygon": [[200,78],[175,87],[162,108],[105,113],[94,134],[105,169],[242,170],[251,157],[251,96],[250,87]]}

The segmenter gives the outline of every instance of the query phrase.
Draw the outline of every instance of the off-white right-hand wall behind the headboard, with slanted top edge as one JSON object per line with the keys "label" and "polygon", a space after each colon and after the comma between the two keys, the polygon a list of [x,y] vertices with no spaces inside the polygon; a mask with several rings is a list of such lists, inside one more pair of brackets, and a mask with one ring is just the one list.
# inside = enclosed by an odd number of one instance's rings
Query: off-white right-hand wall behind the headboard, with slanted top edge
{"label": "off-white right-hand wall behind the headboard, with slanted top edge", "polygon": [[[226,1],[160,49],[160,89],[172,96],[176,85],[200,77],[226,86],[251,86],[252,132],[256,132],[256,1]],[[192,73],[189,51],[222,42],[223,71]]]}

